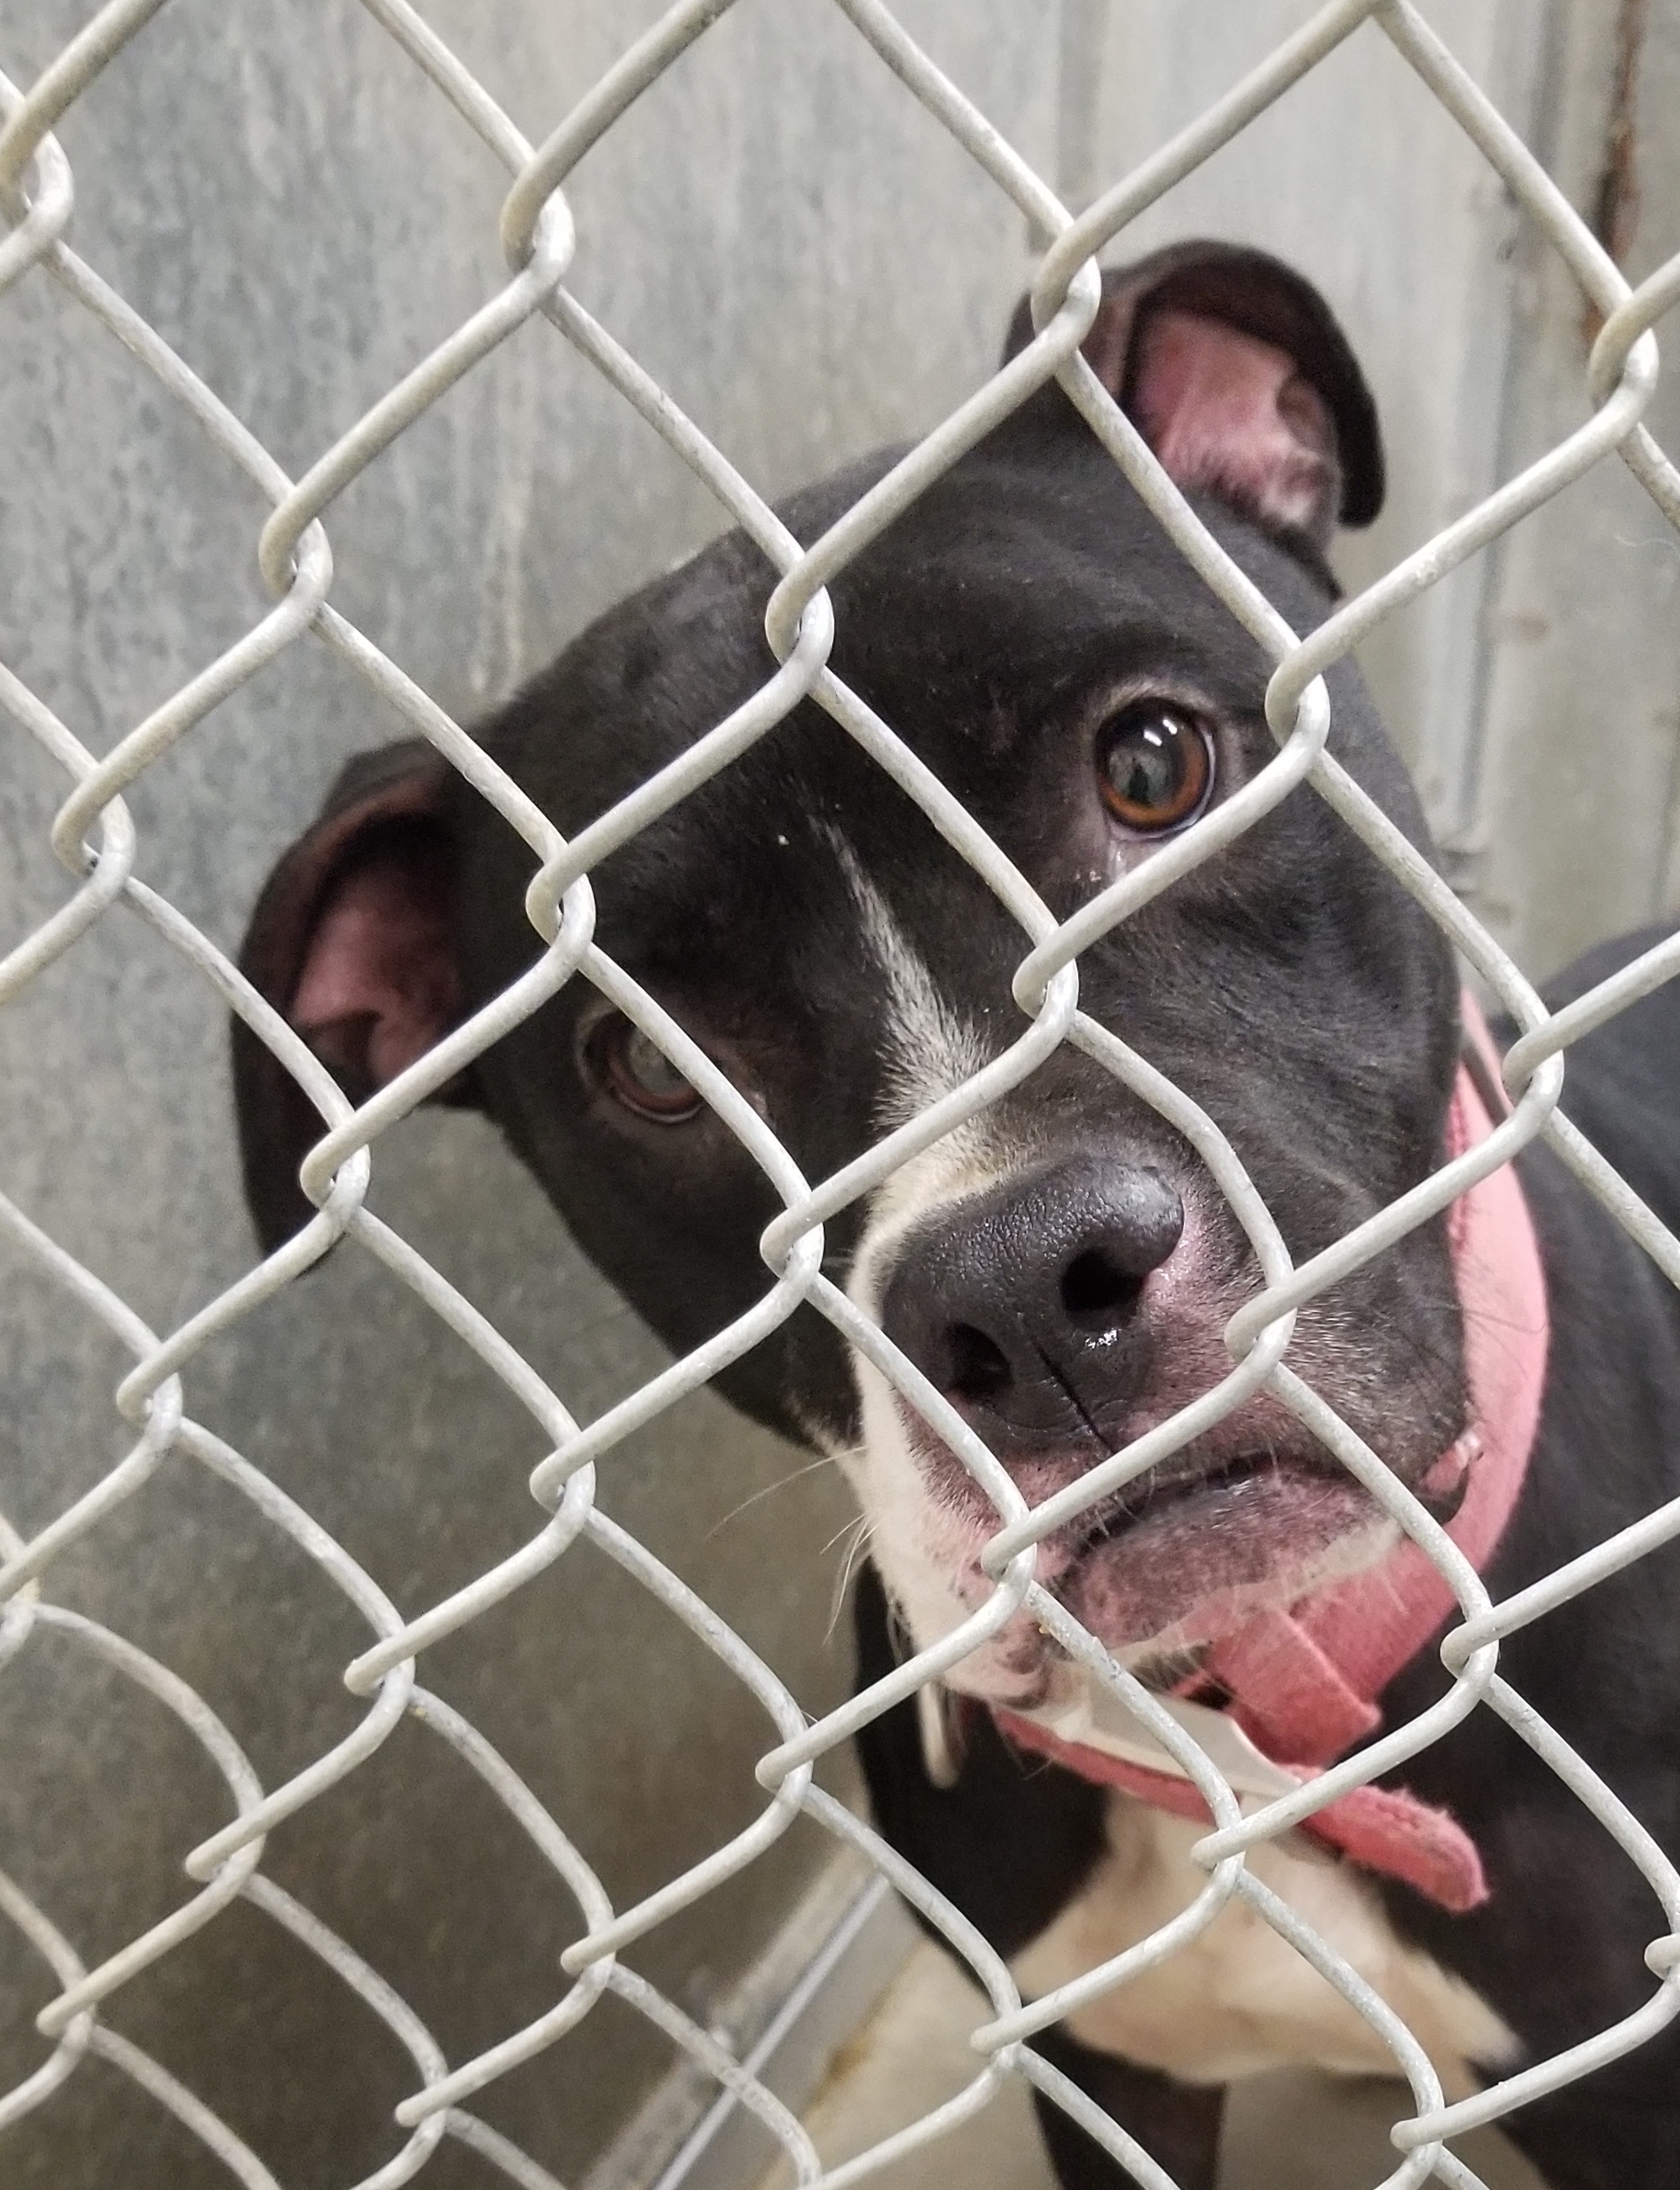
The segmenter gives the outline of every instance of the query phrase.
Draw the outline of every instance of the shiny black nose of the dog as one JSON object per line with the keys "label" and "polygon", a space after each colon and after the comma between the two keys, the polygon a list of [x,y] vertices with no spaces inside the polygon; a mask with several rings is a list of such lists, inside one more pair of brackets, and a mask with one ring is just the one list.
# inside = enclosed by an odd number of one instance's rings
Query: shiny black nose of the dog
{"label": "shiny black nose of the dog", "polygon": [[881,1321],[988,1443],[1089,1439],[1143,1378],[1137,1303],[1183,1229],[1152,1169],[1080,1161],[1010,1178],[911,1231]]}

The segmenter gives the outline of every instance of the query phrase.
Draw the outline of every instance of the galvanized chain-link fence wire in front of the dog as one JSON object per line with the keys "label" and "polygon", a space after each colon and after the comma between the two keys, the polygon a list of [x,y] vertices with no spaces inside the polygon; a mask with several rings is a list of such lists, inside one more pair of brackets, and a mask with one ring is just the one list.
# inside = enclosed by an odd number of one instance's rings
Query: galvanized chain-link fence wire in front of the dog
{"label": "galvanized chain-link fence wire in front of the dog", "polygon": [[[53,1636],[59,1647],[99,1656],[125,1682],[160,1702],[195,1737],[228,1787],[230,1822],[186,1851],[184,1868],[197,1892],[105,1962],[88,1969],[53,1914],[37,1907],[0,1875],[0,1912],[59,1982],[59,1993],[37,2017],[48,2052],[11,2091],[0,2096],[0,2131],[33,2107],[74,2105],[77,2067],[99,2056],[120,2070],[149,2098],[169,2109],[202,2144],[252,2186],[274,2190],[263,2162],[193,2096],[171,2072],[101,2021],[101,2008],[138,1971],[166,1956],[232,1899],[261,1910],[311,1949],[392,2030],[414,2063],[414,2091],[396,2109],[407,2142],[368,2175],[359,2190],[394,2186],[418,2175],[440,2140],[467,2144],[495,2175],[526,2190],[556,2190],[554,2177],[506,2137],[467,2111],[467,2100],[521,2061],[556,2045],[605,1993],[657,2026],[668,2041],[751,2109],[786,2153],[799,2183],[839,2190],[870,2177],[894,2157],[940,2137],[955,2122],[986,2107],[1010,2076],[1047,2094],[1104,2144],[1148,2190],[1170,2190],[1170,2177],[1115,2122],[1080,2094],[1034,2048],[1032,2037],[1082,2002],[1126,1984],[1200,1934],[1233,1899],[1246,1901],[1268,1925],[1312,1962],[1365,2017],[1389,2048],[1397,2074],[1411,2083],[1415,2113],[1393,2129],[1400,2153],[1391,2190],[1437,2179],[1474,2186],[1472,2170],[1443,2148],[1443,2137],[1481,2122],[1496,2122],[1524,2100],[1553,2091],[1649,2039],[1680,2013],[1680,1875],[1623,1802],[1549,1728],[1498,1673],[1498,1645],[1549,1610],[1570,1601],[1630,1561],[1680,1535],[1680,1500],[1544,1581],[1492,1603],[1443,1529],[1389,1474],[1371,1448],[1340,1421],[1288,1362],[1294,1314],[1340,1281],[1367,1257],[1439,1213],[1472,1183],[1507,1163],[1531,1141],[1546,1141],[1584,1185],[1612,1211],[1662,1272],[1680,1283],[1680,1242],[1654,1218],[1597,1150],[1560,1115],[1564,1056],[1573,1040],[1680,970],[1680,937],[1645,953],[1566,1010],[1549,1014],[1494,937],[1470,915],[1446,883],[1417,856],[1395,826],[1371,804],[1325,749],[1330,701],[1325,670],[1371,631],[1439,583],[1468,556],[1487,548],[1592,464],[1619,458],[1645,486],[1658,510],[1680,528],[1680,473],[1641,425],[1658,377],[1654,324],[1680,302],[1680,256],[1638,289],[1630,289],[1606,250],[1568,206],[1544,169],[1492,107],[1448,46],[1408,0],[1334,0],[1305,22],[1227,96],[1200,114],[1170,145],[1124,175],[1078,219],[1040,175],[999,136],[940,66],[902,31],[881,0],[837,0],[839,11],[885,66],[927,110],[929,123],[948,131],[1025,215],[1040,258],[1032,289],[1032,342],[966,403],[920,440],[876,486],[810,548],[786,532],[753,486],[712,447],[655,379],[565,289],[574,250],[574,221],[565,182],[576,162],[618,123],[683,50],[703,37],[729,0],[683,0],[670,9],[594,85],[541,142],[532,145],[482,83],[442,44],[407,0],[364,0],[394,44],[431,79],[460,123],[475,131],[486,153],[508,173],[499,243],[508,265],[504,287],[464,320],[429,357],[421,359],[366,412],[300,480],[241,425],[160,335],[66,243],[74,208],[74,175],[53,136],[59,118],[158,13],[164,0],[112,0],[24,94],[0,77],[0,291],[18,280],[53,280],[103,322],[156,383],[193,414],[210,445],[272,504],[256,541],[261,574],[274,607],[226,653],[173,692],[147,721],[105,756],[92,753],[18,677],[0,668],[0,701],[15,723],[64,769],[70,793],[50,841],[74,876],[66,902],[0,959],[0,1005],[72,950],[105,915],[120,907],[160,935],[287,1064],[320,1110],[322,1139],[302,1167],[318,1204],[309,1226],[250,1270],[239,1283],[193,1314],[180,1329],[153,1332],[90,1268],[57,1246],[26,1211],[0,1200],[9,1240],[96,1325],[131,1356],[134,1369],[116,1388],[118,1415],[134,1428],[129,1452],[103,1480],[57,1520],[24,1542],[0,1518],[0,1664]],[[1227,145],[1273,101],[1281,99],[1343,42],[1386,39],[1428,85],[1529,221],[1562,256],[1586,302],[1601,315],[1601,331],[1586,368],[1590,416],[1518,477],[1476,508],[1415,548],[1376,585],[1347,600],[1305,639],[1262,598],[1198,523],[1174,484],[1154,462],[1135,427],[1111,401],[1080,357],[1080,339],[1097,307],[1097,254],[1178,180]],[[421,418],[445,390],[488,357],[517,326],[545,318],[587,357],[712,491],[727,517],[740,523],[780,574],[769,604],[767,633],[778,672],[727,721],[712,727],[675,762],[624,797],[615,808],[565,841],[552,821],[513,784],[491,756],[453,723],[366,633],[331,607],[333,552],[324,519],[333,499],[375,458]],[[1157,512],[1185,558],[1253,633],[1275,664],[1266,716],[1277,756],[1240,793],[1150,861],[1058,922],[997,843],[951,791],[909,751],[828,668],[835,620],[826,585],[933,480],[1036,388],[1056,379],[1089,420],[1115,464]],[[263,1003],[237,968],[193,922],[149,889],[136,874],[138,839],[125,791],[180,738],[188,736],[234,690],[285,648],[307,639],[331,646],[388,699],[523,837],[539,858],[526,909],[543,942],[537,964],[502,996],[480,1010],[436,1049],[403,1071],[366,1104],[353,1106],[304,1042]],[[863,747],[929,815],[940,834],[988,883],[1023,933],[1014,996],[1023,1027],[1010,1049],[940,1102],[889,1132],[830,1178],[808,1180],[762,1117],[723,1077],[716,1064],[681,1031],[622,966],[594,942],[589,874],[615,845],[688,797],[699,784],[773,736],[775,725],[810,699]],[[1253,1180],[1229,1141],[1181,1088],[1157,1073],[1113,1031],[1080,1010],[1080,950],[1132,915],[1220,845],[1249,830],[1277,802],[1308,786],[1369,845],[1373,858],[1413,894],[1439,929],[1474,966],[1487,990],[1516,1018],[1520,1036],[1505,1058],[1509,1117],[1487,1141],[1448,1163],[1395,1204],[1362,1222],[1347,1237],[1301,1266],[1279,1237]],[[534,1012],[565,981],[594,983],[699,1088],[712,1110],[753,1156],[782,1200],[764,1231],[762,1253],[771,1290],[732,1325],[668,1367],[629,1399],[591,1424],[578,1424],[563,1399],[519,1351],[414,1246],[364,1207],[372,1145],[396,1119],[445,1086],[471,1058]],[[841,1209],[874,1194],[909,1156],[977,1117],[988,1104],[1027,1080],[1060,1045],[1071,1042],[1132,1088],[1194,1145],[1224,1191],[1253,1244],[1264,1290],[1231,1321],[1224,1380],[1172,1421],[1108,1459],[1073,1489],[1027,1509],[1010,1474],[997,1463],[946,1399],[905,1360],[885,1334],[824,1275],[824,1224]],[[467,1588],[416,1618],[403,1618],[377,1579],[223,1439],[186,1413],[186,1373],[197,1349],[217,1332],[248,1316],[289,1286],[340,1237],[348,1235],[407,1283],[453,1329],[484,1367],[515,1395],[539,1426],[548,1456],[530,1489],[541,1524],[513,1557],[491,1566]],[[596,1465],[635,1428],[703,1384],[773,1332],[799,1303],[810,1303],[841,1332],[918,1410],[933,1432],[970,1469],[997,1507],[1001,1526],[986,1553],[994,1588],[964,1625],[933,1649],[920,1651],[891,1678],[876,1682],[839,1710],[808,1724],[786,1686],[732,1629],[727,1610],[703,1603],[646,1546],[596,1505]],[[1244,1397],[1268,1388],[1367,1487],[1400,1529],[1422,1546],[1448,1579],[1463,1618],[1443,1645],[1454,1673],[1450,1693],[1408,1726],[1400,1726],[1358,1756],[1303,1785],[1299,1794],[1242,1813],[1231,1787],[1154,1695],[1119,1671],[1073,1616],[1034,1581],[1036,1544],[1069,1515],[1111,1496],[1143,1469],[1185,1445]],[[232,1732],[169,1667],[123,1636],[55,1605],[44,1594],[55,1557],[85,1540],[123,1500],[138,1496],[166,1463],[186,1459],[237,1489],[252,1507],[252,1524],[285,1535],[355,1605],[368,1627],[368,1647],[346,1669],[350,1691],[366,1699],[355,1730],[280,1787],[265,1789]],[[764,1807],[749,1829],[642,1903],[613,1910],[600,1879],[508,1763],[440,1697],[416,1680],[421,1653],[440,1636],[477,1618],[488,1605],[519,1590],[565,1551],[587,1537],[651,1597],[677,1614],[697,1642],[712,1651],[762,1704],[773,1745],[758,1761]],[[850,1809],[813,1783],[813,1765],[856,1728],[894,1702],[946,1673],[1019,1610],[1032,1612],[1069,1656],[1115,1691],[1150,1726],[1205,1796],[1213,1829],[1198,1842],[1196,1859],[1207,1886],[1167,1927],[1089,1971],[1047,1997],[1023,2004],[1008,1969],[979,1934],[918,1872],[905,1864]],[[1299,1824],[1327,1802],[1365,1785],[1472,1710],[1503,1717],[1579,1796],[1606,1833],[1649,1881],[1654,1975],[1649,1999],[1630,2017],[1581,2045],[1538,2061],[1457,2105],[1441,2085],[1413,2032],[1284,1901],[1249,1868],[1255,1846]],[[340,1936],[263,1875],[265,1835],[355,1772],[405,1717],[447,1743],[506,1807],[530,1844],[565,1883],[578,1907],[583,1936],[563,1956],[569,1984],[554,2006],[521,2030],[462,2063],[447,2063],[407,2004]],[[815,1818],[848,1842],[951,1940],[990,1999],[990,2019],[973,2032],[977,2052],[968,2087],[870,2153],[824,2172],[799,2122],[712,2032],[670,1997],[618,1960],[677,1910],[692,1905],[749,1866],[799,1816]]]}

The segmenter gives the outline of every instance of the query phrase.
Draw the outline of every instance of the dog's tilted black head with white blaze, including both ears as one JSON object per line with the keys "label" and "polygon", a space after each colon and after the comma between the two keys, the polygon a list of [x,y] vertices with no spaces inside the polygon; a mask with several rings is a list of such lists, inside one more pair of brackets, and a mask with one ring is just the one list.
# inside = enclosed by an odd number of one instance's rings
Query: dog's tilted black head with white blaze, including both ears
{"label": "dog's tilted black head with white blaze, including both ears", "polygon": [[[1380,456],[1323,304],[1255,254],[1187,247],[1111,276],[1086,353],[1297,626],[1332,593],[1319,545],[1369,517]],[[786,512],[815,539],[883,469]],[[705,550],[578,639],[480,731],[576,830],[769,675],[771,572]],[[1058,390],[964,458],[832,587],[835,670],[962,799],[1058,915],[1229,799],[1275,753],[1266,661],[1189,572]],[[1422,841],[1351,670],[1332,751]],[[258,907],[248,968],[366,1093],[532,959],[530,854],[425,749],[350,771]],[[1027,942],[927,817],[815,705],[594,874],[598,937],[824,1178],[1025,1027]],[[1224,1128],[1305,1257],[1439,1161],[1457,1058],[1450,955],[1312,793],[1080,959],[1080,1005]],[[265,1237],[307,1213],[318,1128],[239,1053]],[[585,1250],[677,1349],[758,1299],[778,1202],[718,1119],[583,981],[460,1091],[499,1121]],[[828,1226],[828,1270],[1040,1502],[1229,1371],[1259,1286],[1189,1145],[1065,1047]],[[1417,1483],[1461,1428],[1441,1229],[1301,1312],[1290,1362]],[[916,1642],[990,1588],[997,1515],[832,1327],[799,1310],[721,1380],[843,1456]],[[1222,1629],[1369,1559],[1365,1496],[1257,1397],[1047,1542],[1040,1575],[1124,1656]],[[1034,1702],[1045,1642],[1005,1629],[953,1680]]]}

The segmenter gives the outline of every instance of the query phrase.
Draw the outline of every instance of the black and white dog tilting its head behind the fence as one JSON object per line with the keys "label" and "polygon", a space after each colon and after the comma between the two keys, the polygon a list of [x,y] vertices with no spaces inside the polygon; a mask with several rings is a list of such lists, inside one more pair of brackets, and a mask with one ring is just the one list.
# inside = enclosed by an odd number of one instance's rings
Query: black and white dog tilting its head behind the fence
{"label": "black and white dog tilting its head behind the fence", "polygon": [[[1334,602],[1325,541],[1338,519],[1376,515],[1382,453],[1358,366],[1316,293],[1259,254],[1183,245],[1106,278],[1086,357],[1290,624],[1321,622]],[[887,462],[799,495],[789,526],[817,537]],[[745,539],[718,541],[598,622],[480,738],[578,830],[764,681],[771,583]],[[832,602],[837,672],[1058,915],[1275,751],[1262,653],[1054,385],[859,556]],[[1330,690],[1332,753],[1426,845],[1358,675],[1334,670]],[[364,1097],[530,964],[528,878],[530,854],[464,782],[421,745],[390,747],[346,771],[280,863],[245,966]],[[815,705],[594,880],[605,948],[810,1178],[1023,1027],[1010,999],[1021,931]],[[1630,950],[1601,953],[1553,1001]],[[1297,1259],[1443,1161],[1463,1040],[1452,955],[1314,793],[1290,795],[1086,950],[1080,979],[1084,1010],[1222,1126]],[[1671,1058],[1680,999],[1658,992],[1579,1045],[1566,1108],[1678,1222]],[[309,1213],[296,1176],[320,1121],[245,1034],[237,1084],[250,1198],[272,1246]],[[694,1347],[767,1288],[758,1235],[778,1209],[771,1189],[587,983],[506,1036],[451,1099],[497,1121],[670,1347]],[[1551,1349],[1538,1434],[1518,1439],[1520,1494],[1481,1548],[1494,1597],[1680,1491],[1673,1292],[1544,1150],[1520,1176]],[[852,1296],[1032,1505],[1218,1382],[1222,1327],[1259,1290],[1255,1255],[1192,1148],[1071,1049],[845,1211],[828,1248]],[[1465,1432],[1496,1443],[1509,1430],[1474,1419],[1465,1259],[1446,1218],[1424,1224],[1310,1303],[1288,1356],[1430,1496],[1443,1454],[1459,1454],[1472,1485],[1485,1465]],[[821,1316],[799,1310],[718,1382],[749,1415],[839,1454],[856,1487],[874,1561],[859,1588],[863,1680],[979,1603],[994,1511]],[[1540,1404],[1538,1369],[1533,1386]],[[1463,1480],[1448,1483],[1441,1513],[1463,1496]],[[1154,1686],[1229,1717],[1244,1691],[1216,1645],[1238,1614],[1281,1618],[1391,1553],[1371,1500],[1262,1395],[1049,1537],[1040,1575]],[[1673,1555],[1649,1557],[1500,1660],[1671,1851],[1673,1586]],[[1299,1756],[1325,1763],[1437,1699],[1446,1673],[1428,1645],[1441,1625],[1437,1605],[1380,1693],[1354,1697],[1343,1730]],[[909,1704],[863,1739],[883,1831],[1038,1993],[1183,1907],[1203,1881],[1187,1848],[1207,1829],[1194,1802],[1146,1800],[1124,1770],[1108,1785],[1069,1770],[1078,1750],[1045,1741],[1062,1761],[1029,1754],[1016,1734],[1045,1724],[1065,1675],[1045,1636],[1014,1621],[951,1673],[955,1754],[937,1754],[927,1713]],[[1264,1785],[1264,1741],[1246,1754]],[[1570,2048],[1652,1995],[1643,1951],[1665,1923],[1649,1888],[1492,1713],[1472,1713],[1373,1800],[1395,1816],[1408,1805],[1426,1837],[1448,1835],[1474,1883],[1428,1890],[1358,1835],[1338,1842],[1347,1853],[1290,1835],[1255,1862],[1406,2017],[1450,2094]],[[1211,2183],[1229,2080],[1281,2063],[1391,2065],[1340,1995],[1240,1905],[1038,2043],[1183,2190]],[[1509,2129],[1555,2190],[1671,2190],[1673,2032],[1531,2102]],[[1045,2133],[1065,2183],[1121,2179],[1054,2109]]]}

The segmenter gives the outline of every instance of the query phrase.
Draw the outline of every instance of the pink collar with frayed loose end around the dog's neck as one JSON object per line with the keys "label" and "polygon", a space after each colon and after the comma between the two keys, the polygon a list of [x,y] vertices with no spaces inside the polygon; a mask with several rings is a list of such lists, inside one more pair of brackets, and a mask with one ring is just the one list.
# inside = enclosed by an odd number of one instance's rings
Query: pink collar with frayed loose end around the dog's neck
{"label": "pink collar with frayed loose end around the dog's neck", "polygon": [[[1470,996],[1463,999],[1463,1025],[1496,1088],[1498,1056]],[[1448,1156],[1461,1156],[1492,1130],[1476,1080],[1461,1064],[1448,1113]],[[1459,1196],[1448,1237],[1463,1312],[1470,1428],[1441,1454],[1424,1487],[1441,1496],[1465,1483],[1446,1533],[1481,1572],[1529,1472],[1546,1380],[1546,1281],[1529,1204],[1509,1163]],[[1308,1780],[1378,1730],[1376,1697],[1454,1605],[1432,1561],[1404,1542],[1367,1572],[1288,1612],[1264,1612],[1224,1636],[1192,1686],[1211,1680],[1255,1748]],[[997,1713],[997,1724],[1016,1745],[1051,1756],[1080,1778],[1207,1820],[1203,1798],[1185,1778],[1062,1741],[1008,1710]],[[1367,1870],[1404,1879],[1448,1910],[1487,1899],[1481,1855],[1465,1829],[1450,1811],[1419,1802],[1404,1787],[1358,1787],[1308,1818],[1303,1831]]]}

